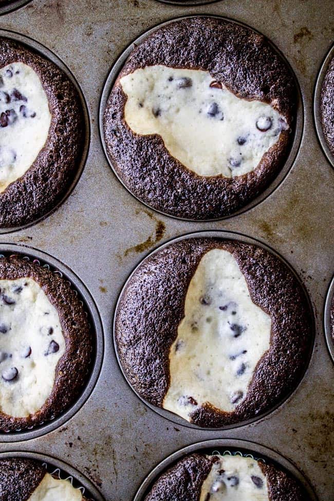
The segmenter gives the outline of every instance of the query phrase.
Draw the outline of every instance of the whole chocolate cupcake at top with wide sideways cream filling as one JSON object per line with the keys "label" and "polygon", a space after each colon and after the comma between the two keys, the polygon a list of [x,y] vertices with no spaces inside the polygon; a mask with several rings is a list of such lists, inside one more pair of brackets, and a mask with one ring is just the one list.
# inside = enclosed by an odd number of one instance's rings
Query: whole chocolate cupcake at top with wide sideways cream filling
{"label": "whole chocolate cupcake at top with wide sideways cream filling", "polygon": [[290,68],[262,35],[183,18],[125,62],[104,111],[106,151],[125,187],[152,208],[228,216],[282,169],[296,96]]}

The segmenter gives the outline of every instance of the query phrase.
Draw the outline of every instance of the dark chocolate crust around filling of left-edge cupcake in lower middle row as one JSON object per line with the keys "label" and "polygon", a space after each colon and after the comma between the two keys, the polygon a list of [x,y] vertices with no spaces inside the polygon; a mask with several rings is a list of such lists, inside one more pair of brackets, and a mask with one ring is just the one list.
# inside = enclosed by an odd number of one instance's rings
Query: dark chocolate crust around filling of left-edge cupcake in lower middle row
{"label": "dark chocolate crust around filling of left-edge cupcake in lower middle row", "polygon": [[24,418],[0,412],[0,430],[14,431],[36,426],[57,417],[78,398],[87,381],[92,357],[89,323],[76,292],[57,273],[20,257],[0,259],[0,280],[30,277],[57,308],[66,349],[55,368],[52,392],[42,408]]}

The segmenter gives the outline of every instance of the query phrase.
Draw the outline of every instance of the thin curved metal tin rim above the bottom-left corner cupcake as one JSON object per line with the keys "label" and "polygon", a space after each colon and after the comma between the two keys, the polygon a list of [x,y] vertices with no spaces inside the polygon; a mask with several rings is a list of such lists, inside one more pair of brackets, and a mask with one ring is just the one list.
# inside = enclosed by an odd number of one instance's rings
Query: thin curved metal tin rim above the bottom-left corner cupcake
{"label": "thin curved metal tin rim above the bottom-left corner cupcake", "polygon": [[47,465],[54,466],[55,469],[60,469],[62,472],[68,474],[73,477],[79,484],[82,485],[85,489],[87,489],[89,495],[94,496],[94,501],[104,501],[104,498],[95,487],[95,485],[87,478],[83,473],[81,473],[76,468],[68,465],[68,463],[62,461],[53,456],[49,456],[47,454],[41,454],[40,452],[31,452],[31,451],[5,451],[0,452],[0,459],[7,458],[26,458],[26,459],[36,459],[41,463],[45,462]]}

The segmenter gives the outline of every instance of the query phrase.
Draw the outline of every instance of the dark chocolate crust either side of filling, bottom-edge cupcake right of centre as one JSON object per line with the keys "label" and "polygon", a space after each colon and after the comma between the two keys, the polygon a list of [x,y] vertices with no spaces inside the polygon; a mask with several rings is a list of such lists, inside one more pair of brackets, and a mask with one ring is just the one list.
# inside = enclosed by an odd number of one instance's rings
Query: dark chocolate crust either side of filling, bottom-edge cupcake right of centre
{"label": "dark chocolate crust either side of filling, bottom-edge cupcake right of centre", "polygon": [[[212,461],[200,454],[181,459],[158,478],[145,501],[199,501],[211,466]],[[295,478],[268,462],[259,461],[259,466],[267,478],[270,501],[308,501],[309,496]]]}

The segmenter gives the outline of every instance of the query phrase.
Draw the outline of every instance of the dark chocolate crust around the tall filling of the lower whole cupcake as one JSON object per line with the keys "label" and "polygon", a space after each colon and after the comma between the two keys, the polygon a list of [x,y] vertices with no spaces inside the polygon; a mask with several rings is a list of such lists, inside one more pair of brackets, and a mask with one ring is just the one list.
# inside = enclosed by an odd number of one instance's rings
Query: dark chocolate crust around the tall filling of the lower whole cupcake
{"label": "dark chocolate crust around the tall filling of the lower whole cupcake", "polygon": [[162,407],[170,384],[169,352],[184,317],[189,283],[201,257],[214,248],[231,252],[253,302],[272,319],[270,349],[259,360],[246,398],[232,413],[209,405],[192,422],[219,427],[261,415],[279,404],[302,378],[313,343],[312,313],[293,273],[268,251],[217,238],[189,238],[147,257],[132,275],[116,311],[115,338],[129,383]]}

